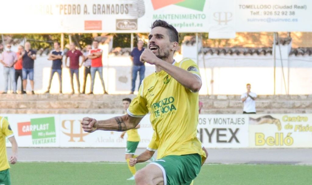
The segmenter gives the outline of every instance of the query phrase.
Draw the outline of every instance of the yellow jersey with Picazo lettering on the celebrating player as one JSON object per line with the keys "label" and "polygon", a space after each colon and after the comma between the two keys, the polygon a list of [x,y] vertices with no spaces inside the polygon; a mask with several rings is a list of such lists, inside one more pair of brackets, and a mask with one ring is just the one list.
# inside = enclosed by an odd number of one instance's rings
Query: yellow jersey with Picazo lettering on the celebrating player
{"label": "yellow jersey with Picazo lettering on the celebrating player", "polygon": [[[190,59],[173,65],[200,78],[197,64]],[[127,113],[132,117],[151,114],[155,141],[159,142],[158,159],[194,153],[206,157],[196,137],[198,92],[191,92],[165,71],[151,74],[142,81],[138,96],[131,102]]]}

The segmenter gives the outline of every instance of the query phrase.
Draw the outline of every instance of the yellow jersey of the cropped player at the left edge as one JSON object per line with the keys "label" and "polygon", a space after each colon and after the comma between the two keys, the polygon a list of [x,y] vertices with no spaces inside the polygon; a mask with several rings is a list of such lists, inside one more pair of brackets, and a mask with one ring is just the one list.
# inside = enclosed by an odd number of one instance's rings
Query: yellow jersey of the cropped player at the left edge
{"label": "yellow jersey of the cropped player at the left edge", "polygon": [[0,116],[0,171],[10,168],[7,160],[6,138],[14,136],[9,122]]}

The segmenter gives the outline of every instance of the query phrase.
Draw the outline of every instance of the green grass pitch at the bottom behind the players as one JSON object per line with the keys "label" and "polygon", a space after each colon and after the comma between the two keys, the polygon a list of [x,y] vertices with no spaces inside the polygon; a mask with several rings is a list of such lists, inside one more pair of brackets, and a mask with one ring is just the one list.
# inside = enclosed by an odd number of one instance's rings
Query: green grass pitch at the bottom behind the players
{"label": "green grass pitch at the bottom behind the players", "polygon": [[[19,162],[10,173],[12,185],[135,184],[126,163]],[[312,184],[311,174],[308,165],[204,165],[194,185]]]}

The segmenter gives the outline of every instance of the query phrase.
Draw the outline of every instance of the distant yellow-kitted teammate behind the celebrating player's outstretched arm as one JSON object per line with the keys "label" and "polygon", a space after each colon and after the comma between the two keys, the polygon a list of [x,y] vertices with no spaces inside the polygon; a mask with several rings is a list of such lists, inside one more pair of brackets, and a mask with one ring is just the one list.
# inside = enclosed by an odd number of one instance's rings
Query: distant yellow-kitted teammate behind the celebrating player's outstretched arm
{"label": "distant yellow-kitted teammate behind the celebrating player's outstretched arm", "polygon": [[[122,105],[124,106],[124,110],[127,111],[129,105],[131,103],[131,99],[130,98],[124,98],[122,100]],[[129,160],[130,158],[133,157],[135,150],[138,147],[138,144],[140,142],[140,136],[138,133],[138,129],[140,128],[140,125],[138,124],[138,126],[136,126],[134,129],[130,129],[127,131],[124,131],[121,133],[120,138],[124,138],[124,134],[127,133],[128,138],[127,138],[127,147],[126,147],[126,161],[129,167],[130,172],[132,173],[132,177],[128,178],[127,180],[134,180],[134,175],[136,173],[136,169],[134,166],[130,166],[129,165]]]}

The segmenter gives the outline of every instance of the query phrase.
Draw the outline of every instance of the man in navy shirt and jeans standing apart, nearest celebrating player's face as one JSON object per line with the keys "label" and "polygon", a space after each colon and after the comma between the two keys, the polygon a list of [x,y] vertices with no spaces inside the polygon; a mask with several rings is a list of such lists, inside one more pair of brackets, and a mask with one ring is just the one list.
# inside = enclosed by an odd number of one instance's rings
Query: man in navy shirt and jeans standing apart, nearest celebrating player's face
{"label": "man in navy shirt and jeans standing apart, nearest celebrating player's face", "polygon": [[140,83],[139,83],[138,89],[141,86],[141,82],[144,79],[144,73],[145,73],[145,65],[143,62],[140,62],[140,56],[141,56],[142,52],[144,51],[143,41],[139,40],[137,46],[138,47],[135,47],[131,52],[131,60],[133,62],[133,66],[132,66],[132,88],[131,88],[130,94],[133,94],[133,92],[134,92],[135,81],[136,81],[136,78],[138,76],[138,72],[140,75]]}

